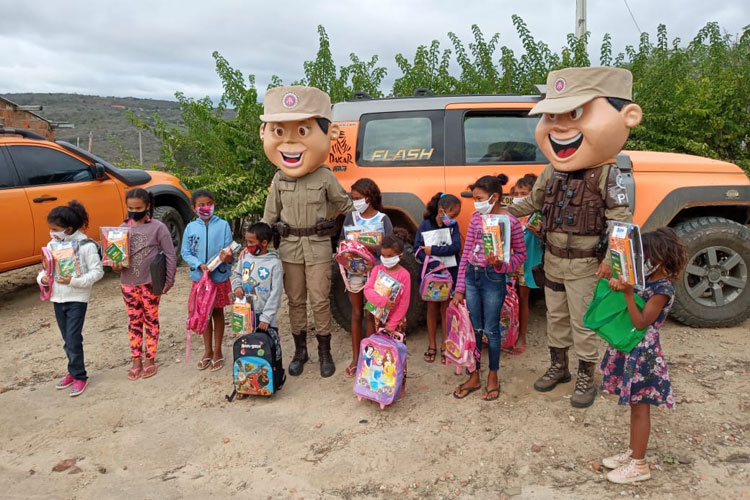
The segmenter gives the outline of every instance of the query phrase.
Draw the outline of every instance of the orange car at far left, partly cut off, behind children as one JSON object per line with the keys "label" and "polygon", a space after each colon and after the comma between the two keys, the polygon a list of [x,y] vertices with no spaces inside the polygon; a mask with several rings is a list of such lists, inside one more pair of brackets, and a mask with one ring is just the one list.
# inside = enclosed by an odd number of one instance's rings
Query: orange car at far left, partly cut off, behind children
{"label": "orange car at far left, partly cut off, behind children", "polygon": [[86,232],[98,241],[100,226],[118,226],[125,219],[125,193],[134,187],[154,193],[154,216],[169,228],[179,255],[183,229],[193,216],[190,192],[179,179],[117,168],[73,144],[0,128],[0,272],[40,261],[53,207],[83,203],[90,217]]}

